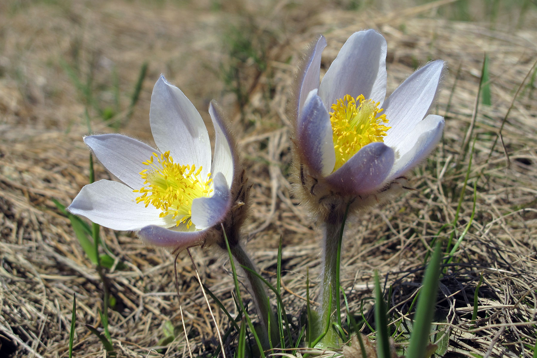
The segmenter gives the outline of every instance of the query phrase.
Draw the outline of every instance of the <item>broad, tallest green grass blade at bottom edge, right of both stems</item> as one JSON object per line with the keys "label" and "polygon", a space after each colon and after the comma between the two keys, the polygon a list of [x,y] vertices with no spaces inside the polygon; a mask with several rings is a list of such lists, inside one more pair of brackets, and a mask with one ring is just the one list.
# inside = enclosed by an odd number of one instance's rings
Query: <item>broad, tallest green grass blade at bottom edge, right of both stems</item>
{"label": "broad, tallest green grass blade at bottom edge, right of both stems", "polygon": [[423,286],[418,299],[418,306],[414,322],[412,324],[412,335],[407,351],[407,357],[425,358],[425,352],[429,345],[431,322],[434,316],[434,308],[437,303],[438,281],[440,275],[440,262],[442,260],[442,247],[440,241],[437,242],[433,256],[425,270]]}

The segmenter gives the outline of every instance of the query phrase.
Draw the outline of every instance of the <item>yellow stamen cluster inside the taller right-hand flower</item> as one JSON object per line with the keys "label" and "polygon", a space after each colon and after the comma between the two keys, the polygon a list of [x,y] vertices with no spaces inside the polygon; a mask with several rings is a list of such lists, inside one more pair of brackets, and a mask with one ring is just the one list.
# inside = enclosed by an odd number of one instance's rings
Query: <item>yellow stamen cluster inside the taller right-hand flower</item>
{"label": "yellow stamen cluster inside the taller right-hand flower", "polygon": [[388,123],[388,120],[386,114],[378,115],[383,111],[379,104],[372,99],[366,100],[363,94],[356,99],[346,94],[332,105],[330,122],[336,151],[334,170],[339,169],[365,145],[384,141],[383,137],[391,127],[382,124]]}

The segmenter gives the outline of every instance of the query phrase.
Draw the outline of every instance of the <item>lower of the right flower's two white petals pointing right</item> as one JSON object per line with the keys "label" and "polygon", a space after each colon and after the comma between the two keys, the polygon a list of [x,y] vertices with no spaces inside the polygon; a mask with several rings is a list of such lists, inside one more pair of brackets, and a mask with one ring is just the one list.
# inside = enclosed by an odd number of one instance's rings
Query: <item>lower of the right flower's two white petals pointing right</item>
{"label": "lower of the right flower's two white petals pointing right", "polygon": [[391,169],[390,179],[404,175],[425,159],[440,141],[443,129],[444,118],[436,114],[430,114],[418,122],[411,133],[397,145],[400,157]]}

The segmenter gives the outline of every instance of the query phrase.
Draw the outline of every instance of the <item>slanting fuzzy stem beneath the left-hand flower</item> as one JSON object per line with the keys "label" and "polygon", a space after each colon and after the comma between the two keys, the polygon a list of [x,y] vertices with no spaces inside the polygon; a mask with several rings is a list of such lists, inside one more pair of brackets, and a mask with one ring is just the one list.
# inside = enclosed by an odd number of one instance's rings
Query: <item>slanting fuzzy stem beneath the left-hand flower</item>
{"label": "slanting fuzzy stem beneath the left-hand flower", "polygon": [[[230,250],[237,264],[242,265],[244,267],[248,267],[250,270],[257,273],[256,265],[254,265],[252,260],[250,260],[249,255],[244,251],[241,244],[237,243],[236,245],[231,246]],[[265,284],[253,272],[247,269],[243,269],[243,271],[244,271],[244,277],[246,281],[248,282],[248,286],[250,288],[253,303],[256,306],[259,319],[261,320],[261,323],[264,328],[263,330],[264,337],[262,337],[262,345],[267,348],[269,347],[269,333],[268,332],[269,332],[269,318],[270,318],[271,341],[274,346],[277,346],[278,342],[280,341],[278,320],[275,318],[274,312],[272,312],[270,308],[269,298],[267,297],[267,294],[266,294]]]}

